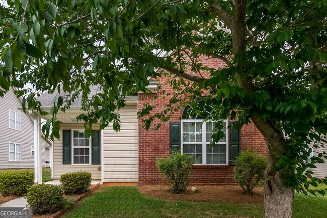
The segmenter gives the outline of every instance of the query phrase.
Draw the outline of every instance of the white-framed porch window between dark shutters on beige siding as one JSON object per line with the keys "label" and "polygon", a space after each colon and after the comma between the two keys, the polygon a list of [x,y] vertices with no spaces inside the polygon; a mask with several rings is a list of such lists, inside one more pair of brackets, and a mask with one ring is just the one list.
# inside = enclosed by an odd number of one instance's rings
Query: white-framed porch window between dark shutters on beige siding
{"label": "white-framed porch window between dark shutters on beige siding", "polygon": [[91,137],[86,137],[84,130],[71,131],[73,164],[91,164]]}

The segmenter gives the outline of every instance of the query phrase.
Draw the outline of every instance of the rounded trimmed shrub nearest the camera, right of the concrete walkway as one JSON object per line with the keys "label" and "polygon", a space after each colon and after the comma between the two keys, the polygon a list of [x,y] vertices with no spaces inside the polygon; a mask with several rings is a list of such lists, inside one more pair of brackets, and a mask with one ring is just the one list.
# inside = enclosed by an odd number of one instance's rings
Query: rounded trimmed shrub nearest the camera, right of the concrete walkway
{"label": "rounded trimmed shrub nearest the camera, right of the concrete walkway", "polygon": [[61,210],[66,201],[60,185],[41,184],[32,186],[26,195],[34,214],[54,213]]}

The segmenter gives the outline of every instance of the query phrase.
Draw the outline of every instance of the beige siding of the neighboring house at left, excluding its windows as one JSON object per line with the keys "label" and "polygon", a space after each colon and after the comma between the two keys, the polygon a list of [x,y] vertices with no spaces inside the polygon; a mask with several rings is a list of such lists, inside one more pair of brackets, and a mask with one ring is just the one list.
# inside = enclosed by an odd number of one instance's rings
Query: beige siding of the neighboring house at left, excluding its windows
{"label": "beige siding of the neighboring house at left, excluding its windows", "polygon": [[[32,119],[18,110],[21,101],[10,89],[5,96],[0,97],[0,169],[33,168],[34,156],[34,125]],[[9,128],[9,110],[21,114],[21,130]],[[21,161],[9,161],[9,143],[21,144]],[[45,166],[45,140],[42,143],[42,166]]]}

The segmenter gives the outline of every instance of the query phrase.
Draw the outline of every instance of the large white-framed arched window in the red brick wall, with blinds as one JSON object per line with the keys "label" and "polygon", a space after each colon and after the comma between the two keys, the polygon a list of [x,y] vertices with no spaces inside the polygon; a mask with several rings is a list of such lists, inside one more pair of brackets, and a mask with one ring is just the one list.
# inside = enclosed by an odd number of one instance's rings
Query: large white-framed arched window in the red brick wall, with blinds
{"label": "large white-framed arched window in the red brick wall, with blinds", "polygon": [[195,117],[190,116],[191,111],[188,105],[182,115],[182,153],[194,157],[196,164],[227,164],[227,120],[223,121],[222,129],[225,137],[210,146],[215,125],[214,121],[205,121],[210,114],[210,107]]}

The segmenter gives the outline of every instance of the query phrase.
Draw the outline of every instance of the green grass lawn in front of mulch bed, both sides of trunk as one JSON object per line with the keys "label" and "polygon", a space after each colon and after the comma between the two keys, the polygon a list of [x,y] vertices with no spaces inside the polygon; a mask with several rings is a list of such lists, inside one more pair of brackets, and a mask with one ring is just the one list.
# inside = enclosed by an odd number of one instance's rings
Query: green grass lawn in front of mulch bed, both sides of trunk
{"label": "green grass lawn in front of mulch bed, both sides of trunk", "polygon": [[[324,217],[327,197],[295,194],[293,217]],[[108,187],[85,198],[64,217],[262,217],[263,204],[166,201],[135,187]]]}

